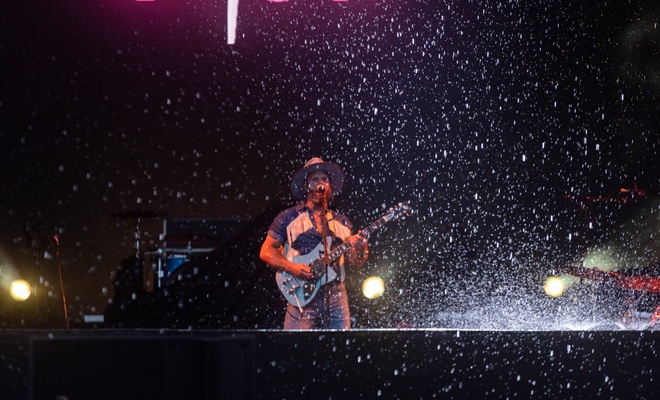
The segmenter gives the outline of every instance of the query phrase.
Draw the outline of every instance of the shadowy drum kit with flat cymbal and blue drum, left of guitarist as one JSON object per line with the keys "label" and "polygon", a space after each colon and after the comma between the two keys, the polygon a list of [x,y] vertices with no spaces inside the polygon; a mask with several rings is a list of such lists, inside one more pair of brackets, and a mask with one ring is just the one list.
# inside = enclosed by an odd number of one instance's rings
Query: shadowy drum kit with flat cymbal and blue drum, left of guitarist
{"label": "shadowy drum kit with flat cymbal and blue drum, left of guitarist", "polygon": [[163,223],[163,234],[159,236],[162,246],[156,246],[148,251],[143,251],[141,249],[142,230],[140,227],[142,220],[163,218],[167,215],[168,213],[164,211],[142,210],[139,201],[136,210],[118,211],[110,214],[111,217],[135,221],[135,256],[143,265],[148,266],[144,270],[144,286],[146,291],[152,291],[154,288],[166,286],[171,275],[182,265],[189,262],[191,257],[196,253],[207,253],[213,250],[212,247],[199,247],[199,237],[193,233],[168,237],[168,220],[165,220]]}

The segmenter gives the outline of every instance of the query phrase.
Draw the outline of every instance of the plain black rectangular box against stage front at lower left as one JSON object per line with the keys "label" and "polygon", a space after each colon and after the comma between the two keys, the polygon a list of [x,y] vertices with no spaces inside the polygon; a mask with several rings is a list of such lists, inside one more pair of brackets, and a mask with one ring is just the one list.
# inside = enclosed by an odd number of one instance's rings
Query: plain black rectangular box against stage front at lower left
{"label": "plain black rectangular box against stage front at lower left", "polygon": [[31,352],[31,399],[255,398],[249,337],[46,338]]}

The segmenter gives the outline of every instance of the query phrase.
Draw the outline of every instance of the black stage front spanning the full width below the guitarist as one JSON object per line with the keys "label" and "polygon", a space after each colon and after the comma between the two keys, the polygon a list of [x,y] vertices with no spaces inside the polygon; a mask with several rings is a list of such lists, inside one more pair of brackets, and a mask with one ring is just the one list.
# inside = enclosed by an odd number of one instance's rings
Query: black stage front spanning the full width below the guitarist
{"label": "black stage front spanning the full width below the guitarist", "polygon": [[0,395],[655,399],[659,338],[652,330],[5,331]]}

